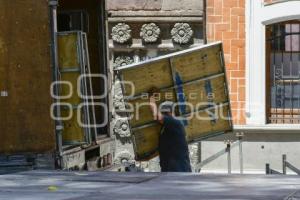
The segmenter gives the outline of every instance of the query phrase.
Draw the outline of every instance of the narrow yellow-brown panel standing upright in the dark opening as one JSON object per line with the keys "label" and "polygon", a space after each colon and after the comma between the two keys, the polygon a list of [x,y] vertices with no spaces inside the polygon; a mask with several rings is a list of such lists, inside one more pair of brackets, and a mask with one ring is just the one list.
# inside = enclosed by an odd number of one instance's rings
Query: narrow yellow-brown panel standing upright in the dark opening
{"label": "narrow yellow-brown panel standing upright in the dark opening", "polygon": [[[67,81],[72,85],[72,95],[68,99],[64,99],[62,103],[68,103],[73,106],[73,116],[68,120],[63,120],[64,129],[62,131],[63,144],[78,144],[85,142],[85,130],[78,123],[76,108],[81,103],[77,90],[77,80],[80,76],[80,42],[81,34],[79,32],[59,33],[58,35],[58,56],[59,69],[61,71],[61,81]],[[67,69],[76,69],[79,71],[63,72]],[[66,84],[61,87],[62,96],[69,94],[70,88]],[[64,107],[63,107],[64,108]],[[62,116],[67,117],[70,110],[64,108]],[[82,120],[81,120],[82,121]],[[83,121],[82,121],[83,122]]]}

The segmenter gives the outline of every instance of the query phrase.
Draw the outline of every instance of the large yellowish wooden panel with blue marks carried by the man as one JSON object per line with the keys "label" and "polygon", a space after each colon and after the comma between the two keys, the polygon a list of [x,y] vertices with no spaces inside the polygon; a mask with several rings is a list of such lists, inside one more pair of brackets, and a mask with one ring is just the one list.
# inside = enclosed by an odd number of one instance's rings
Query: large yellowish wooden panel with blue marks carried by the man
{"label": "large yellowish wooden panel with blue marks carried by the man", "polygon": [[[157,154],[160,125],[153,121],[146,94],[152,87],[157,104],[171,100],[185,125],[189,143],[232,131],[222,44],[214,43],[117,69],[126,97],[137,160]],[[168,99],[166,97],[169,97]],[[130,106],[129,106],[130,105]]]}

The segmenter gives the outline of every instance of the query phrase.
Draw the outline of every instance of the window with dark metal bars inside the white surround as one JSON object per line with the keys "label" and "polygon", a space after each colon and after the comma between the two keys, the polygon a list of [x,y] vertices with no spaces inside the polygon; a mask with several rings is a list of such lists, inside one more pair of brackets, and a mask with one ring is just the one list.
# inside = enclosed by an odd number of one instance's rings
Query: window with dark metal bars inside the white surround
{"label": "window with dark metal bars inside the white surround", "polygon": [[269,123],[300,123],[300,20],[266,28]]}

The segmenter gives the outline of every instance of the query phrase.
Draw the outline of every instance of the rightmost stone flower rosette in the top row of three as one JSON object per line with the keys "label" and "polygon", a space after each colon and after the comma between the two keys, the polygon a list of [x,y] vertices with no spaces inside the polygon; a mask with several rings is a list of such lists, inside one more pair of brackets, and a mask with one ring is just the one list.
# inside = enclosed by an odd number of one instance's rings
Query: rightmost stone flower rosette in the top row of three
{"label": "rightmost stone flower rosette in the top row of three", "polygon": [[178,44],[187,44],[193,34],[194,31],[187,23],[176,23],[171,31],[173,41]]}

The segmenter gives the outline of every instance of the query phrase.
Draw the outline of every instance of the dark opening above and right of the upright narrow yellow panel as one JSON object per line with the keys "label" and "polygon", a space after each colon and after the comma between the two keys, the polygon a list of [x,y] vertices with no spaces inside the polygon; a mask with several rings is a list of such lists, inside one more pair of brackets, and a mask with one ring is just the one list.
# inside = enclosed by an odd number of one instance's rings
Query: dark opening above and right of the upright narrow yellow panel
{"label": "dark opening above and right of the upright narrow yellow panel", "polygon": [[[107,77],[107,44],[105,23],[105,1],[103,0],[59,0],[57,8],[57,28],[59,32],[82,31],[87,35],[91,73]],[[94,99],[95,103],[109,108],[107,84],[103,78],[93,77],[94,96],[104,96]],[[94,141],[109,136],[109,109],[95,106],[96,122],[103,125],[97,128],[97,138]]]}

